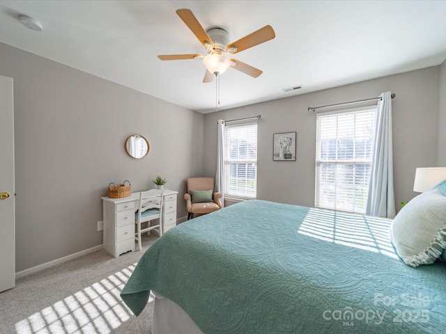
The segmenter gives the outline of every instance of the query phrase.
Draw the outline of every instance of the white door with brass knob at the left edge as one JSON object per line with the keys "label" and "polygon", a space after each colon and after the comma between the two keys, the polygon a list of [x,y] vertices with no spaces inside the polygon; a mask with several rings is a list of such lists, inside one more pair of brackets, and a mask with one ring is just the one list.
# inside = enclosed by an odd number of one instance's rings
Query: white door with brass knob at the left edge
{"label": "white door with brass knob at the left edge", "polygon": [[0,292],[15,287],[13,79],[0,75]]}

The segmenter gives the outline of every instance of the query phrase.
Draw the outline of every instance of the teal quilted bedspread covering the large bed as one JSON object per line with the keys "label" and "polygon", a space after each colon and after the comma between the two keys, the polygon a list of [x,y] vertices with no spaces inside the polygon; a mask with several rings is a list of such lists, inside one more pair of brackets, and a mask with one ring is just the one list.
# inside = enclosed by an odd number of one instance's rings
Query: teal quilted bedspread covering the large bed
{"label": "teal quilted bedspread covering the large bed", "polygon": [[139,315],[153,289],[207,334],[445,333],[445,262],[403,264],[390,222],[245,201],[166,232],[121,297]]}

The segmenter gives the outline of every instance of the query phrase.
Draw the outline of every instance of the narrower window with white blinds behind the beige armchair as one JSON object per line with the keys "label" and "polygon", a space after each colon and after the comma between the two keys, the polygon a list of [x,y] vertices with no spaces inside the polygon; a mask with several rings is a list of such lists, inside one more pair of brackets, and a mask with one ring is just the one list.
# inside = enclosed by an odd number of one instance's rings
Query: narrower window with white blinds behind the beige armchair
{"label": "narrower window with white blinds behind the beige armchair", "polygon": [[257,196],[257,123],[226,126],[224,142],[224,196]]}

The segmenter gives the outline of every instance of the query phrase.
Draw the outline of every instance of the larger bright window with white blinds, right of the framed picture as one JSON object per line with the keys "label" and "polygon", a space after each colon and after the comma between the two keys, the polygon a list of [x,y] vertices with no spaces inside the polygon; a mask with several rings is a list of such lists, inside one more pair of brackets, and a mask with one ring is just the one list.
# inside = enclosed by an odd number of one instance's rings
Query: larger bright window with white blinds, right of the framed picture
{"label": "larger bright window with white blinds, right of the framed picture", "polygon": [[376,107],[316,116],[316,207],[365,213],[375,123]]}

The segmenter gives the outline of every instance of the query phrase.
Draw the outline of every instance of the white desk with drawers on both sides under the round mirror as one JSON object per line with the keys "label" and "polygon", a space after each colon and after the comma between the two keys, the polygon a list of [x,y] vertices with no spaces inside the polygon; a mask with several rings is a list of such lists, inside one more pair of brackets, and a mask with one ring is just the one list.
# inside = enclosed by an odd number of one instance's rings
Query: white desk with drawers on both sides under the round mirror
{"label": "white desk with drawers on both sides under the round mirror", "polygon": [[[163,233],[176,226],[176,194],[164,190]],[[139,191],[123,198],[102,197],[102,248],[114,257],[134,250],[134,212],[139,207]]]}

